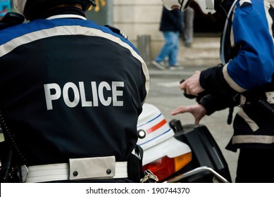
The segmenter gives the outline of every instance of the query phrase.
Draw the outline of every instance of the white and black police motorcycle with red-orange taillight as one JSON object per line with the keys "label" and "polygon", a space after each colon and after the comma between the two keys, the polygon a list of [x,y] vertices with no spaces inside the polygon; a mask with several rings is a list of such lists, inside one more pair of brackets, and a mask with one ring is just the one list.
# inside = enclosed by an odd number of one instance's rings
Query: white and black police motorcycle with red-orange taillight
{"label": "white and black police motorcycle with red-orange taillight", "polygon": [[154,105],[144,103],[137,123],[142,170],[155,182],[232,182],[228,163],[205,125],[168,122]]}

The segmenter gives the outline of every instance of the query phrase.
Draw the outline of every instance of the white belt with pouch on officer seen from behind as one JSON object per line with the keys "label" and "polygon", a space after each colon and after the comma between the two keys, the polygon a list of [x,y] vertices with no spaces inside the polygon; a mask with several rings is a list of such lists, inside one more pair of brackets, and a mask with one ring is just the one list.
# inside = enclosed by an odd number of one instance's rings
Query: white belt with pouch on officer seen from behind
{"label": "white belt with pouch on officer seen from behind", "polygon": [[70,159],[69,163],[21,166],[23,182],[127,178],[127,162],[114,156]]}

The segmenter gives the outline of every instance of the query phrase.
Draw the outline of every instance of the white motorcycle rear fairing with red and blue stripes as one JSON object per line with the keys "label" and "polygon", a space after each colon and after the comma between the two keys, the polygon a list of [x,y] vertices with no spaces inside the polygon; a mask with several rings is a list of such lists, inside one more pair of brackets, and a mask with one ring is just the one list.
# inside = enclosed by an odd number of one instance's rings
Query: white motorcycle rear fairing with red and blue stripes
{"label": "white motorcycle rear fairing with red and blue stripes", "polygon": [[137,131],[139,135],[137,144],[144,150],[143,165],[164,156],[175,158],[191,152],[187,144],[175,139],[175,133],[161,111],[149,103],[143,105]]}

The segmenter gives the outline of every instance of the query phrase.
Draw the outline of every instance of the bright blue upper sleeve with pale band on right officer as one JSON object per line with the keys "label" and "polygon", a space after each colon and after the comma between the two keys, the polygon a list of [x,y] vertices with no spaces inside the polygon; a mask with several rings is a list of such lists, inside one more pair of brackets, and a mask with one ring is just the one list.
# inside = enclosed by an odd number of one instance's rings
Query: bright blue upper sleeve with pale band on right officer
{"label": "bright blue upper sleeve with pale band on right officer", "polygon": [[242,92],[270,83],[274,73],[273,7],[263,1],[237,2],[231,43],[237,56],[223,68],[225,81]]}

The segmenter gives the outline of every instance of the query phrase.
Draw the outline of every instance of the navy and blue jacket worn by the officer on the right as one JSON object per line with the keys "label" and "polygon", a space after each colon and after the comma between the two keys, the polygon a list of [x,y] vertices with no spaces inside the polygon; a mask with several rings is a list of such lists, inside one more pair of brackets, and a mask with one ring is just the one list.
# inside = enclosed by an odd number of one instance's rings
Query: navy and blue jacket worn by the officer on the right
{"label": "navy and blue jacket worn by the officer on the right", "polygon": [[223,64],[201,72],[209,94],[200,103],[209,115],[246,99],[235,116],[230,148],[274,148],[274,116],[255,99],[267,101],[266,94],[274,93],[274,8],[262,0],[232,2],[221,40]]}

